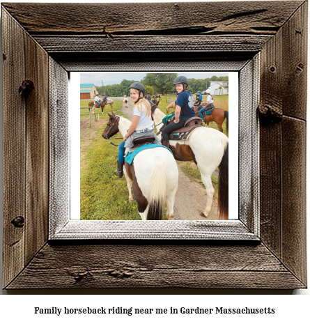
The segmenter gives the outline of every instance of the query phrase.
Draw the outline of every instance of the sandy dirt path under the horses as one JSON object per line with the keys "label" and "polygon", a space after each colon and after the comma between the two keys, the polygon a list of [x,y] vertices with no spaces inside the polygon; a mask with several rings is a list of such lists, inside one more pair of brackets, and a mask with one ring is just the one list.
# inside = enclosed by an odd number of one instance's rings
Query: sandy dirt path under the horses
{"label": "sandy dirt path under the horses", "polygon": [[[133,102],[128,98],[128,108],[123,105],[122,112],[132,121]],[[208,217],[199,215],[206,207],[206,190],[200,183],[189,180],[178,165],[179,182],[174,204],[174,219],[176,220],[217,220],[217,201],[213,199],[212,210]]]}

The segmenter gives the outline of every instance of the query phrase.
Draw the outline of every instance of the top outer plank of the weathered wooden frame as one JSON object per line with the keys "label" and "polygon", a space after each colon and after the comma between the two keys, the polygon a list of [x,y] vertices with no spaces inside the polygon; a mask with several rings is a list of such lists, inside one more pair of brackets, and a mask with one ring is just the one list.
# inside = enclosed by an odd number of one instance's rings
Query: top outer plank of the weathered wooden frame
{"label": "top outer plank of the weathered wooden frame", "polygon": [[[189,3],[3,3],[31,35],[190,33],[275,34],[303,1]],[[143,15],[137,15],[141,7]],[[24,12],[27,15],[24,15]],[[109,19],[94,19],[104,13]],[[203,13],[203,15],[201,15]],[[46,17],[49,17],[47,20]],[[159,18],[160,17],[160,18]],[[199,17],[199,19],[197,19]]]}

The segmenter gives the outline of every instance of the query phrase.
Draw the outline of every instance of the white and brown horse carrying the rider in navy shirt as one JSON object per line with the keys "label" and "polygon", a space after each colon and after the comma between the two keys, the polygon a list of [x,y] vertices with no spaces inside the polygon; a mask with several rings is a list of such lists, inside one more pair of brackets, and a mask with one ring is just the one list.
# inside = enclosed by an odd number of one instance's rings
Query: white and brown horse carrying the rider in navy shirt
{"label": "white and brown horse carrying the rider in navy shirt", "polygon": [[[157,130],[162,127],[162,118],[166,116],[155,105],[152,116]],[[157,135],[161,139],[161,134]],[[206,187],[207,204],[200,215],[208,217],[212,208],[214,188],[211,175],[219,167],[219,219],[228,219],[228,137],[218,130],[199,127],[186,141],[169,141],[170,149],[176,160],[194,161],[201,173]]]}

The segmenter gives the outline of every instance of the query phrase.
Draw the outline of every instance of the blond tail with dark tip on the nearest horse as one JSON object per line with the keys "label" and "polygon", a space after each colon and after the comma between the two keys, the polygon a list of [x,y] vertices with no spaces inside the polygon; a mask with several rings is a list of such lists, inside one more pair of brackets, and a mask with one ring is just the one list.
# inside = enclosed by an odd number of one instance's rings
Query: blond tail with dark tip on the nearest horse
{"label": "blond tail with dark tip on the nearest horse", "polygon": [[148,197],[147,220],[162,220],[166,201],[166,170],[162,162],[157,162],[150,176],[150,196]]}

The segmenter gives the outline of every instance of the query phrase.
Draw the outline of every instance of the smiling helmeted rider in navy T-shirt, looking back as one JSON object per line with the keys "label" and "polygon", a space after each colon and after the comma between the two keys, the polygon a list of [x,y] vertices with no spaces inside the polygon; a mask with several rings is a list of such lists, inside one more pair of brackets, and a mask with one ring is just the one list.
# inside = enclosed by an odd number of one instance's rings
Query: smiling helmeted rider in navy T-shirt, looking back
{"label": "smiling helmeted rider in navy T-shirt, looking back", "polygon": [[194,97],[192,93],[187,91],[188,87],[188,79],[187,77],[177,77],[174,83],[176,85],[176,92],[178,93],[176,99],[176,109],[175,120],[173,123],[166,125],[166,127],[162,130],[162,145],[169,148],[169,134],[174,130],[178,130],[179,128],[183,128],[187,119],[195,117],[194,110]]}

